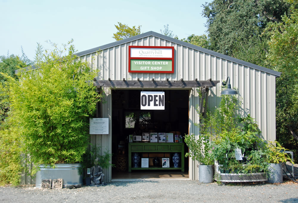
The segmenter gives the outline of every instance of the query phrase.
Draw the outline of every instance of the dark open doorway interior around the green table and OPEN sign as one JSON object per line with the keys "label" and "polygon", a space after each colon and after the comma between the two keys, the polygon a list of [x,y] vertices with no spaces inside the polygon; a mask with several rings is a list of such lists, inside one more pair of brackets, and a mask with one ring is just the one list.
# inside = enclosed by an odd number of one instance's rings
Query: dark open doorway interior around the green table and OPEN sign
{"label": "dark open doorway interior around the green table and OPEN sign", "polygon": [[[140,178],[152,171],[132,171],[128,173],[129,135],[142,135],[143,132],[188,133],[189,90],[164,90],[164,110],[140,110],[140,94],[143,90],[112,90],[112,180],[124,177]],[[161,91],[161,90],[146,90]],[[184,142],[184,141],[183,141]],[[184,144],[184,151],[187,146]],[[153,152],[154,153],[154,152]],[[184,155],[183,155],[184,156]],[[188,175],[188,159],[184,160],[185,172],[171,170],[166,177],[184,177]],[[160,172],[160,173],[159,173]],[[156,177],[164,176],[166,171],[154,171]],[[139,175],[138,175],[139,174]],[[146,176],[146,175],[145,175]]]}

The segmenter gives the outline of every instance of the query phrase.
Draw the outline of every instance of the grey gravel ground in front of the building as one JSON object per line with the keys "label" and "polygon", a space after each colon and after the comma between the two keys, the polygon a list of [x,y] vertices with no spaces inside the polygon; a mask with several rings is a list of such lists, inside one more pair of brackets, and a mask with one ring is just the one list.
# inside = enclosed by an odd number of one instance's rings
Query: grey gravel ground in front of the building
{"label": "grey gravel ground in front of the building", "polygon": [[0,202],[297,202],[298,183],[233,184],[200,183],[195,180],[145,179],[112,181],[99,187],[39,189],[35,185],[0,187]]}

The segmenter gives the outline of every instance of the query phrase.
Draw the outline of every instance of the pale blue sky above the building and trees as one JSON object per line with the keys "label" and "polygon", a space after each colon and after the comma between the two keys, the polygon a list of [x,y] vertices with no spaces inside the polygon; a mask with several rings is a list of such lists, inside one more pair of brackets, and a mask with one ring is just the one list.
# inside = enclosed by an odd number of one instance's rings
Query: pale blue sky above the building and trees
{"label": "pale blue sky above the building and trees", "polygon": [[37,43],[67,43],[78,51],[114,42],[115,24],[141,25],[141,33],[161,33],[169,24],[179,39],[206,33],[202,4],[211,0],[0,0],[0,55],[35,57]]}

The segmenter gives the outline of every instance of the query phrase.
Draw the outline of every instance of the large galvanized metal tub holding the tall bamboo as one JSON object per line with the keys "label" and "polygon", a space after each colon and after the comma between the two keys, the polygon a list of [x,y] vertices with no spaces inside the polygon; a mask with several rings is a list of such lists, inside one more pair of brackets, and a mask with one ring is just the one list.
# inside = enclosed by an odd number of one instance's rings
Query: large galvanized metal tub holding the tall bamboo
{"label": "large galvanized metal tub holding the tall bamboo", "polygon": [[56,164],[55,168],[47,165],[40,165],[40,171],[36,173],[35,187],[41,187],[43,179],[62,178],[63,188],[71,185],[83,185],[83,174],[79,173],[81,164]]}

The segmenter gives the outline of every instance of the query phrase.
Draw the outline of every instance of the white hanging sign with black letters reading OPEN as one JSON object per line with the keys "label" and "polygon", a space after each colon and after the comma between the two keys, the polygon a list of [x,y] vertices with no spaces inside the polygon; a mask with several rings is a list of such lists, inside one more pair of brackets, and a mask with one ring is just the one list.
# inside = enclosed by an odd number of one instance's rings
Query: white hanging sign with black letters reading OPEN
{"label": "white hanging sign with black letters reading OPEN", "polygon": [[164,92],[141,92],[141,109],[164,110]]}

